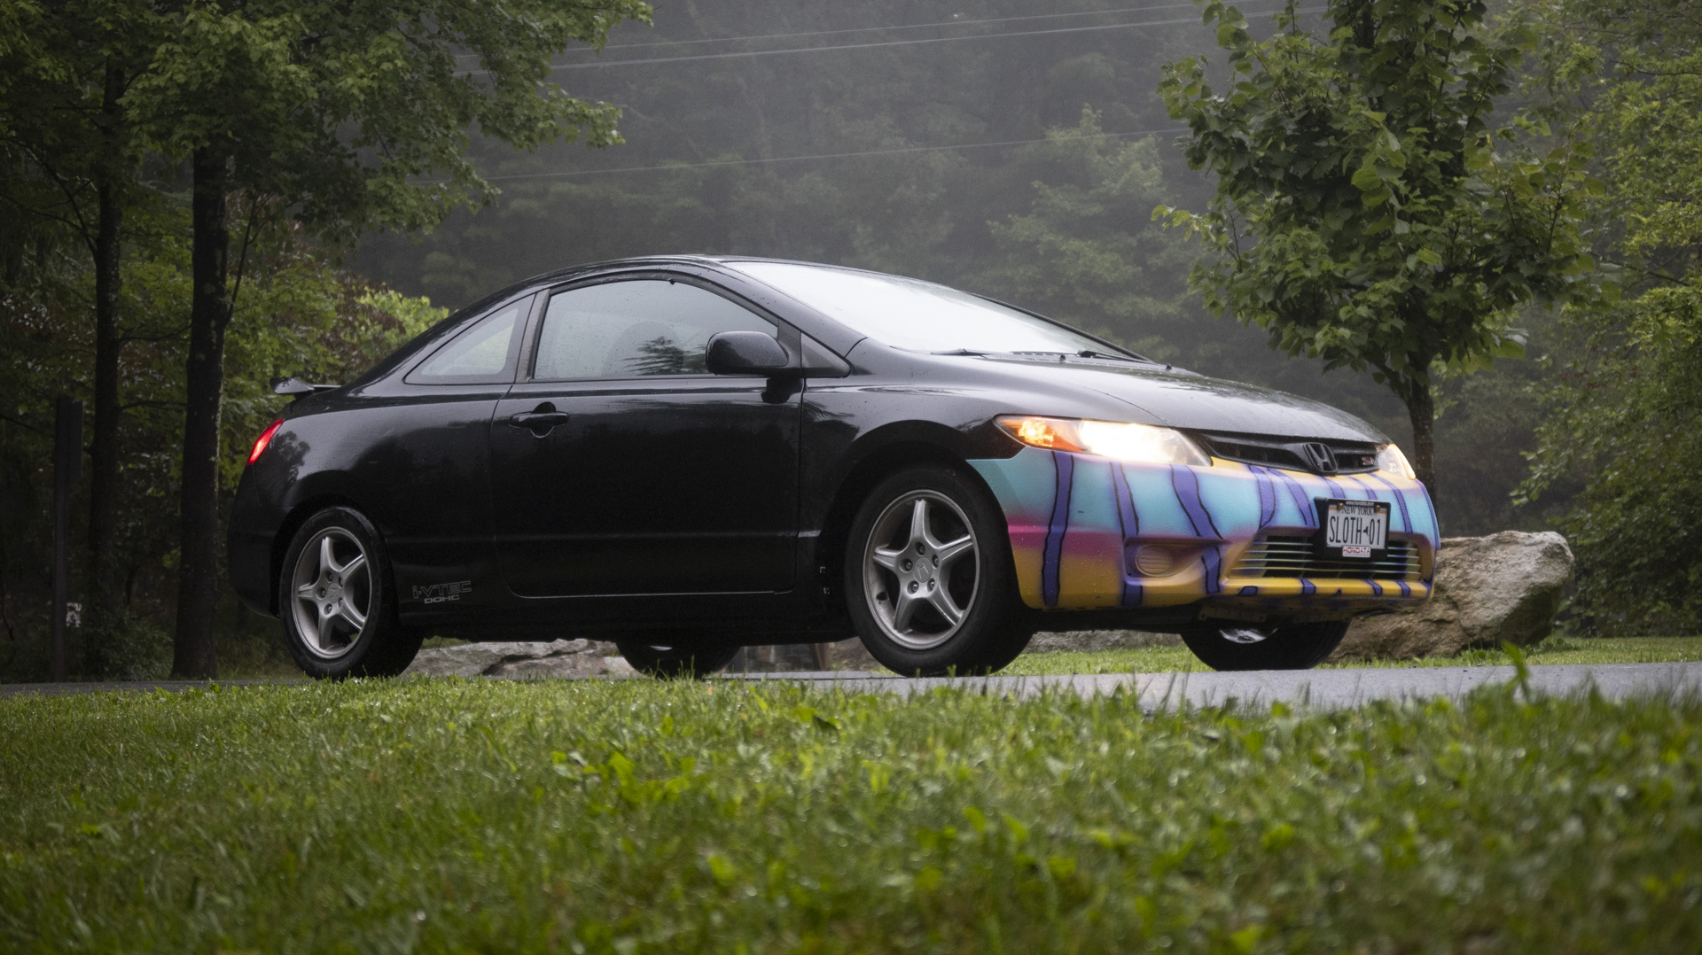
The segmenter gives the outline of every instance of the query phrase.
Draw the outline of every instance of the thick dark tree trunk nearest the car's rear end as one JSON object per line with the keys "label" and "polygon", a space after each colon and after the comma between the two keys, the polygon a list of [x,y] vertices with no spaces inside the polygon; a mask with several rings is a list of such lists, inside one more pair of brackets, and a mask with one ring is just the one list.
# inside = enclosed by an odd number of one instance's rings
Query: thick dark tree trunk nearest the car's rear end
{"label": "thick dark tree trunk nearest the car's rear end", "polygon": [[218,431],[225,392],[225,327],[230,301],[225,264],[230,230],[225,221],[226,157],[196,150],[191,226],[194,245],[189,300],[189,361],[184,395],[184,489],[177,557],[177,640],[172,676],[218,676],[213,625],[218,611]]}

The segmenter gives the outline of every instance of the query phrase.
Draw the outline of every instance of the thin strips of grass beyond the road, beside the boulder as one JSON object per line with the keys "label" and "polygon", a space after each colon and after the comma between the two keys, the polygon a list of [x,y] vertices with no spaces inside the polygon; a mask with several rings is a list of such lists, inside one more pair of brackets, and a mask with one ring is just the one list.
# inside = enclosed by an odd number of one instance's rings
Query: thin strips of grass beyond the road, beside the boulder
{"label": "thin strips of grass beyond the road, beside the boulder", "polygon": [[[1525,649],[1528,664],[1673,664],[1702,660],[1702,637],[1617,637],[1569,640],[1551,637]],[[1416,660],[1351,660],[1326,667],[1469,667],[1510,666],[1501,650],[1467,650],[1457,657]],[[1210,671],[1188,647],[1144,647],[1140,650],[1096,650],[1023,654],[999,671],[1013,676],[1054,672],[1197,672]]]}

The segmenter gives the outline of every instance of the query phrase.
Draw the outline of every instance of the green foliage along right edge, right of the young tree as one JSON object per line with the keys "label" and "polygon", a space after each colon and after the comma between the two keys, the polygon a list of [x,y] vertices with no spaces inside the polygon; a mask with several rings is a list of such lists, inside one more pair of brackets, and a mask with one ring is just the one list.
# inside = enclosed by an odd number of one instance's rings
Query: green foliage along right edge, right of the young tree
{"label": "green foliage along right edge, right of the young tree", "polygon": [[1579,116],[1622,301],[1573,308],[1525,492],[1583,480],[1562,528],[1596,628],[1702,626],[1702,20],[1693,3],[1554,0],[1537,87]]}

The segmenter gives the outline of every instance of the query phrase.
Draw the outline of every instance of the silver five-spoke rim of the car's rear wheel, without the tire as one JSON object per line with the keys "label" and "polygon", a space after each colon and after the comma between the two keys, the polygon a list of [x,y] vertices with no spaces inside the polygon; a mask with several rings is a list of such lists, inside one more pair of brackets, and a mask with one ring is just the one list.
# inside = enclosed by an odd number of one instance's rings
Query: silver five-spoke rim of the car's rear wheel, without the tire
{"label": "silver five-spoke rim of the car's rear wheel, without the tire", "polygon": [[373,569],[359,538],[344,528],[313,535],[296,557],[296,632],[310,654],[335,660],[349,654],[371,616]]}

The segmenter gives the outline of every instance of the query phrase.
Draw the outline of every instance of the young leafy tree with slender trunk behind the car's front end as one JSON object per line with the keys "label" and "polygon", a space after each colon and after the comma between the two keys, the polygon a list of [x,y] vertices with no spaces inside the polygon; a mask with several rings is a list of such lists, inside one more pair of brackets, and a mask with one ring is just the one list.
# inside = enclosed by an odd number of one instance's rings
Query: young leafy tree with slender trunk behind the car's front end
{"label": "young leafy tree with slender trunk behind the car's front end", "polygon": [[1271,347],[1370,368],[1406,405],[1433,495],[1435,371],[1520,356],[1518,310],[1588,295],[1595,274],[1579,201],[1602,184],[1576,143],[1523,148],[1540,124],[1491,129],[1532,34],[1489,29],[1484,9],[1333,0],[1317,37],[1290,2],[1261,43],[1212,0],[1232,87],[1214,92],[1203,58],[1159,87],[1191,129],[1188,163],[1217,174],[1205,213],[1154,213],[1210,254],[1190,284]]}

